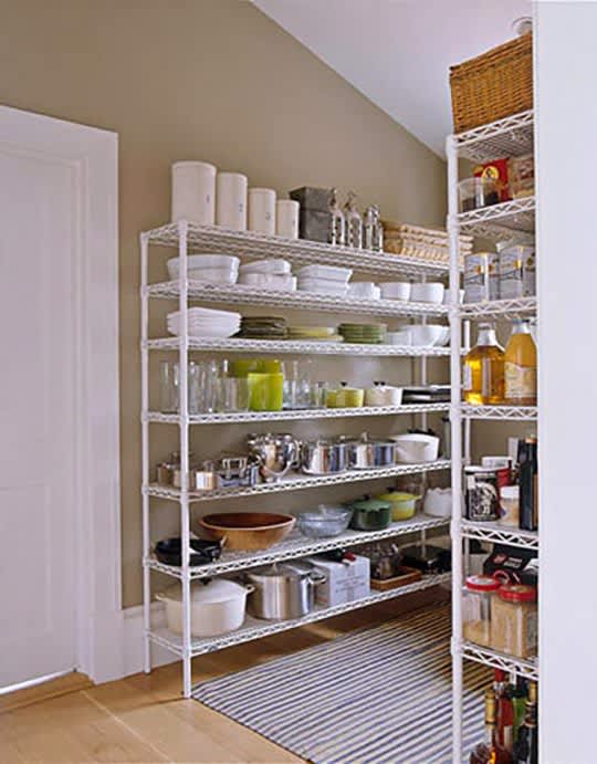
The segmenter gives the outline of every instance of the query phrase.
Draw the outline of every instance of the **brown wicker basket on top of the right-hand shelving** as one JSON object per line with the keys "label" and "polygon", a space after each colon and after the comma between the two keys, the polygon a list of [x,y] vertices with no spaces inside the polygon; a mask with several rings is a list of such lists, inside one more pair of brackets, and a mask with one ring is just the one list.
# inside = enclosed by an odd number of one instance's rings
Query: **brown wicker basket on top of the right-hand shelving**
{"label": "brown wicker basket on top of the right-hand shelving", "polygon": [[454,132],[533,108],[531,32],[450,67]]}

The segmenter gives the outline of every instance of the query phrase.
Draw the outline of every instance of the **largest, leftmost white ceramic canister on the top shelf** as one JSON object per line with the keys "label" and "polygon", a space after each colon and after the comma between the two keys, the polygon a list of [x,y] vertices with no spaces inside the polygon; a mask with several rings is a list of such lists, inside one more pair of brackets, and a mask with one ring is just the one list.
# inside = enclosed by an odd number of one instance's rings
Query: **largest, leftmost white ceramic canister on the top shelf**
{"label": "largest, leftmost white ceramic canister on the top shelf", "polygon": [[207,161],[176,161],[172,165],[171,218],[213,226],[216,167]]}

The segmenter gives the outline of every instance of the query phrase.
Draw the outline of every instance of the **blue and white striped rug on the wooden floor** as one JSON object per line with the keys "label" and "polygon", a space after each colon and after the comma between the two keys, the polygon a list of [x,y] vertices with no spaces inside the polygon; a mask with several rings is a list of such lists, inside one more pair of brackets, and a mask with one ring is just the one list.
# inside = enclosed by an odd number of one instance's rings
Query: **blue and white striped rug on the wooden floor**
{"label": "blue and white striped rug on the wooden floor", "polygon": [[[193,697],[315,764],[451,762],[450,610],[436,606],[196,688]],[[491,674],[468,663],[464,750]]]}

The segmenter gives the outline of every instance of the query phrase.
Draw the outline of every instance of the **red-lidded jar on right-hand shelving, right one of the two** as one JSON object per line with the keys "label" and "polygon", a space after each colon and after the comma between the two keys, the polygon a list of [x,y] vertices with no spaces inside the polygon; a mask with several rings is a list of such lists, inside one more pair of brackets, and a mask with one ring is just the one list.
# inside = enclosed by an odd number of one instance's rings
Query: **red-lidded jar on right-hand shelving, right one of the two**
{"label": "red-lidded jar on right-hand shelving, right one of the two", "polygon": [[537,590],[506,584],[498,592],[491,611],[491,647],[516,658],[537,655]]}

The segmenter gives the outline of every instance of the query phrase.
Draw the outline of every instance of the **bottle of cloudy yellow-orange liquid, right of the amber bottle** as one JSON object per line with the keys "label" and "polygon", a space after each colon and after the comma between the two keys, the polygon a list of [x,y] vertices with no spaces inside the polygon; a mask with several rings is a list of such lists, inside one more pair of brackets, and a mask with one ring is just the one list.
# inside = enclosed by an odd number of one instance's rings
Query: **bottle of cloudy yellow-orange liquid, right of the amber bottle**
{"label": "bottle of cloudy yellow-orange liquid, right of the amber bottle", "polygon": [[527,321],[515,321],[504,356],[504,399],[511,406],[537,402],[537,348]]}

